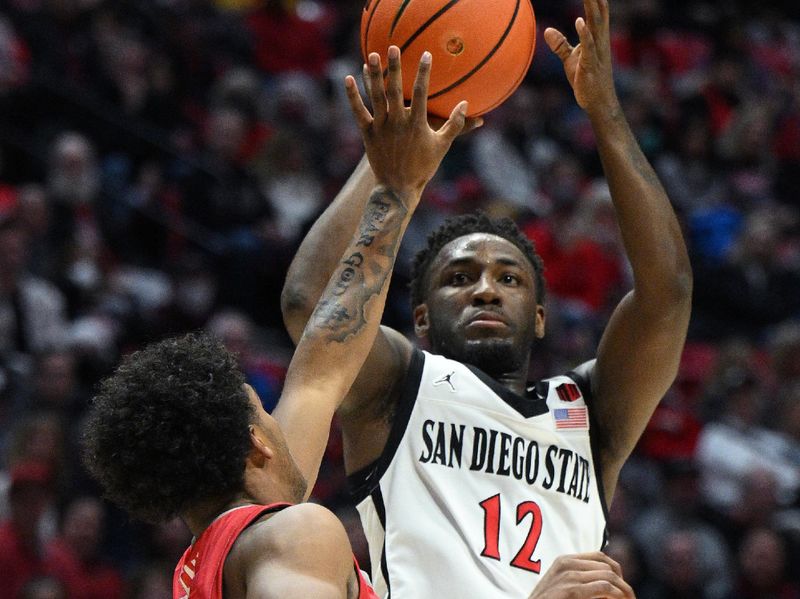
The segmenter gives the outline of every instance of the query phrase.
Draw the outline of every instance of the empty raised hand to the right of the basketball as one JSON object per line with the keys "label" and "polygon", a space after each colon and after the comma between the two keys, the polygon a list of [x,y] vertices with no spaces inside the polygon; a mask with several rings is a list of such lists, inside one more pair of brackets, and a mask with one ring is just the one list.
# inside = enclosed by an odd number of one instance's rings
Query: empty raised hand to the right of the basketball
{"label": "empty raised hand to the right of the basketball", "polygon": [[589,115],[618,105],[611,70],[611,34],[608,0],[583,0],[586,19],[578,17],[575,29],[580,43],[572,46],[558,29],[548,27],[544,39],[564,64],[575,100]]}

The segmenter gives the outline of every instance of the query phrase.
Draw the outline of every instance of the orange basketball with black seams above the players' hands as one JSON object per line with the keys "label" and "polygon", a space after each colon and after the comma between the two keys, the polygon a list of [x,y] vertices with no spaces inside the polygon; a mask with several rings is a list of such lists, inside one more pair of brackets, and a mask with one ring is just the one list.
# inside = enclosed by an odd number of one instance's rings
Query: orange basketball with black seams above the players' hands
{"label": "orange basketball with black seams above the players' hands", "polygon": [[411,98],[416,66],[433,55],[428,112],[448,117],[461,100],[469,116],[499,106],[522,83],[533,58],[536,19],[530,0],[367,0],[361,51],[390,45],[403,58],[403,94]]}

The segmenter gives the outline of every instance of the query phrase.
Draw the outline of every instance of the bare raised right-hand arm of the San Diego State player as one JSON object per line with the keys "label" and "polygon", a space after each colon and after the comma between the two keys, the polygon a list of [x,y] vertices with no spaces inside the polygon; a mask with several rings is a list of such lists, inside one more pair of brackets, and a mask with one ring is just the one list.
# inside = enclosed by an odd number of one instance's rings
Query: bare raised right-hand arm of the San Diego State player
{"label": "bare raised right-hand arm of the San Diego State player", "polygon": [[617,306],[590,373],[607,499],[678,370],[691,307],[692,273],[669,199],[614,91],[607,0],[584,0],[572,47],[555,29],[545,40],[564,63],[597,138],[634,288]]}

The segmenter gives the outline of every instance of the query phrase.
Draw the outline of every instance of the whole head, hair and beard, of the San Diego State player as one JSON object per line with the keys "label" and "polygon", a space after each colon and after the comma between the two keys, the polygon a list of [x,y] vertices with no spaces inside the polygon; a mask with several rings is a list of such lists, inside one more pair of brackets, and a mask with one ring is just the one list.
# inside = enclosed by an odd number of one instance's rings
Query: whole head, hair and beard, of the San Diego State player
{"label": "whole head, hair and beard, of the San Diego State player", "polygon": [[414,329],[431,349],[499,375],[544,335],[542,259],[508,218],[449,218],[414,260]]}

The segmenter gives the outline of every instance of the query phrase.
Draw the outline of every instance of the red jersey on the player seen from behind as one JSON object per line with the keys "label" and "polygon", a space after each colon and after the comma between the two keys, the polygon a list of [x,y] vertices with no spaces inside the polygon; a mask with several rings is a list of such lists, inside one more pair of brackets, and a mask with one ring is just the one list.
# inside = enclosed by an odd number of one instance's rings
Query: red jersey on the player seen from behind
{"label": "red jersey on the player seen from behind", "polygon": [[[225,559],[241,532],[256,520],[278,512],[289,503],[234,508],[211,523],[184,552],[172,578],[173,599],[222,599]],[[358,599],[378,599],[353,558],[358,574]]]}

